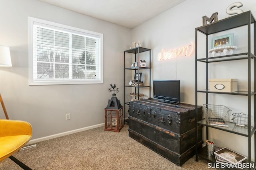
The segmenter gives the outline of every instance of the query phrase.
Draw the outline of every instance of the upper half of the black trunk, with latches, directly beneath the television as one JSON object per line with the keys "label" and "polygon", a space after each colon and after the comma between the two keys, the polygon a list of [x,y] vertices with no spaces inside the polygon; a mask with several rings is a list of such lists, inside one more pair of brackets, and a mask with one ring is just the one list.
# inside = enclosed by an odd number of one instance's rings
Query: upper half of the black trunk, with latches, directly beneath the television
{"label": "upper half of the black trunk, with latches, directly beneath the television", "polygon": [[[165,104],[157,100],[130,101],[129,115],[174,133],[182,134],[196,127],[195,106]],[[202,119],[202,106],[198,107],[198,120]]]}

